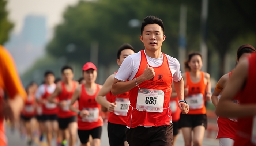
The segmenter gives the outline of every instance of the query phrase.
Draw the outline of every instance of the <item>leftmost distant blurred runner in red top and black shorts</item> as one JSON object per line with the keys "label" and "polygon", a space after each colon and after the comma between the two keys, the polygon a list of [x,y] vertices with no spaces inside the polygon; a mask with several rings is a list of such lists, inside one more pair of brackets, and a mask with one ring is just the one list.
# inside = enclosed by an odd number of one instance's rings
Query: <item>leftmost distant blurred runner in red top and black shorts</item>
{"label": "leftmost distant blurred runner in red top and black shorts", "polygon": [[26,129],[27,144],[30,146],[34,141],[34,132],[36,127],[35,114],[35,96],[33,84],[30,84],[27,88],[27,99],[25,100],[25,106],[21,113],[21,123]]}

